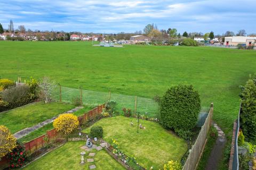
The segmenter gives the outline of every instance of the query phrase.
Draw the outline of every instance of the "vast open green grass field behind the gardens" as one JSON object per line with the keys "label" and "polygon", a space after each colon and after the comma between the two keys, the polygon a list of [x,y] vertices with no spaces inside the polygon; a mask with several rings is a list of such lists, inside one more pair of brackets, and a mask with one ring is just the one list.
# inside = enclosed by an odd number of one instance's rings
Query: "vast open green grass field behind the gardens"
{"label": "vast open green grass field behind the gardens", "polygon": [[[153,98],[175,84],[193,84],[202,106],[231,134],[239,85],[256,72],[256,52],[212,47],[92,47],[89,42],[0,41],[0,77],[49,76],[62,86]],[[118,102],[118,101],[117,101]]]}

